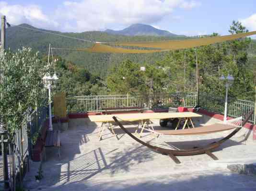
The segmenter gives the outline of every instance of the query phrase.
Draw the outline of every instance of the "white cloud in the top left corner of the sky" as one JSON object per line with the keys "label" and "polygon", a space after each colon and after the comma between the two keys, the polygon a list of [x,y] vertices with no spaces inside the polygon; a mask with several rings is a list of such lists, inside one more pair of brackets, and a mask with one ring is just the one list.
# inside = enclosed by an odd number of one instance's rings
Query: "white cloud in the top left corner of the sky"
{"label": "white cloud in the top left corner of the sky", "polygon": [[0,15],[6,15],[7,21],[14,25],[28,23],[42,28],[58,27],[58,22],[52,21],[37,5],[10,5],[0,1]]}

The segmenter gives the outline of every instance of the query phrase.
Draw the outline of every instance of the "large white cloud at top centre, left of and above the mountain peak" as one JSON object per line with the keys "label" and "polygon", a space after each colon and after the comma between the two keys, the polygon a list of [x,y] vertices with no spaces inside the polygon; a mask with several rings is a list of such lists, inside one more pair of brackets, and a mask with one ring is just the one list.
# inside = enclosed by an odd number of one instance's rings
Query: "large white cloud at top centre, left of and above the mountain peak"
{"label": "large white cloud at top centre, left of and above the mountain peak", "polygon": [[[174,9],[192,9],[194,0],[80,0],[65,1],[55,12],[64,31],[104,30],[114,25],[153,24]],[[71,21],[71,22],[70,22]]]}

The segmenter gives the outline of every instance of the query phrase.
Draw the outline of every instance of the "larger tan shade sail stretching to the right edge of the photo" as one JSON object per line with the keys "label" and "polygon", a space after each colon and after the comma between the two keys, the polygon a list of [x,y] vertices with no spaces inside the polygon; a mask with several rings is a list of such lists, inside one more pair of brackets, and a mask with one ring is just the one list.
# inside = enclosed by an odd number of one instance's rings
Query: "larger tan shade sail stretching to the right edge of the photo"
{"label": "larger tan shade sail stretching to the right edge of the photo", "polygon": [[243,37],[254,35],[254,34],[256,34],[256,31],[225,35],[225,36],[214,36],[214,37],[195,38],[195,39],[186,39],[186,40],[169,40],[169,41],[156,41],[156,42],[113,42],[111,44],[117,45],[117,46],[137,46],[137,47],[147,47],[147,48],[159,48],[159,49],[165,49],[165,50],[178,50],[178,49],[194,48],[198,46],[205,46],[205,45],[214,44],[217,42],[232,41],[235,39],[243,38]]}

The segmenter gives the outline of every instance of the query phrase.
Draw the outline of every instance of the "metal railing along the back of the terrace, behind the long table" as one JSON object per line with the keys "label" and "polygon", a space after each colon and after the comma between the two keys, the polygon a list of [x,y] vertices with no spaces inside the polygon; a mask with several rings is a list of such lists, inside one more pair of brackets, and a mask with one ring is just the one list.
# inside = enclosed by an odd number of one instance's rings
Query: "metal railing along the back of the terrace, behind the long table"
{"label": "metal railing along the back of the terrace, behind the long table", "polygon": [[193,107],[196,93],[172,93],[151,95],[74,96],[67,98],[67,110],[71,112],[100,112],[107,107]]}

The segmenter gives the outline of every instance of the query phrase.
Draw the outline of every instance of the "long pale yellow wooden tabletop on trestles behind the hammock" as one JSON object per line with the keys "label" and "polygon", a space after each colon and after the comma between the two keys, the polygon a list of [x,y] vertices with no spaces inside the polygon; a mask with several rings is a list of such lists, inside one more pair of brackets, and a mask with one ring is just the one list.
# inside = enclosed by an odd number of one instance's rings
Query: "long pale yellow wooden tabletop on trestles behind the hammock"
{"label": "long pale yellow wooden tabletop on trestles behind the hammock", "polygon": [[115,116],[120,121],[201,117],[201,115],[193,112],[176,112],[176,113],[137,113],[137,114],[100,115],[100,116],[89,116],[89,119],[92,122],[114,122],[114,119],[112,118],[113,116]]}

